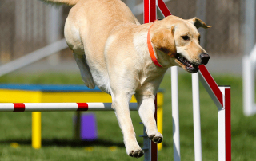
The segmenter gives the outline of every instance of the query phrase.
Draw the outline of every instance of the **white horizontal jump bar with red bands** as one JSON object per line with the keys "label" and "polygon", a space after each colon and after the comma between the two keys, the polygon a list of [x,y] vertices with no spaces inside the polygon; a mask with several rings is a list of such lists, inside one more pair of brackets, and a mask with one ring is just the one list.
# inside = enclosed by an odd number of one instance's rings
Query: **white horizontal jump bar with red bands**
{"label": "white horizontal jump bar with red bands", "polygon": [[[137,103],[129,104],[131,111]],[[113,111],[111,103],[0,103],[0,112]]]}

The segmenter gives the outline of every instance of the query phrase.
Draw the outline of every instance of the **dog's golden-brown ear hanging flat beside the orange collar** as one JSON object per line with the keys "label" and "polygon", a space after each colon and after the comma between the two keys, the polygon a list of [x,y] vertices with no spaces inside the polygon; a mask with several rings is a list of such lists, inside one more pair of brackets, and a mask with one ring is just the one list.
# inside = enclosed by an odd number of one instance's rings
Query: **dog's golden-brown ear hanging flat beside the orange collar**
{"label": "dog's golden-brown ear hanging flat beside the orange collar", "polygon": [[151,39],[154,47],[170,57],[175,57],[176,46],[174,40],[174,26],[171,29],[161,29],[153,34]]}

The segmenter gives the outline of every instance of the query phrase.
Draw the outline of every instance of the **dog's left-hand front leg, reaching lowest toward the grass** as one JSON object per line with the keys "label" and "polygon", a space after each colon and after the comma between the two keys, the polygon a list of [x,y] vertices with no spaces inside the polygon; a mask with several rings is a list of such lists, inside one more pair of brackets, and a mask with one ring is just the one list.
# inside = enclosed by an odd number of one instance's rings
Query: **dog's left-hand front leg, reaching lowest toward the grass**
{"label": "dog's left-hand front leg, reaching lowest toward the grass", "polygon": [[[129,96],[130,95],[130,96]],[[112,108],[118,118],[118,124],[122,130],[126,152],[132,157],[139,158],[144,155],[141,147],[139,147],[134,127],[130,118],[129,102],[131,94],[112,94]]]}

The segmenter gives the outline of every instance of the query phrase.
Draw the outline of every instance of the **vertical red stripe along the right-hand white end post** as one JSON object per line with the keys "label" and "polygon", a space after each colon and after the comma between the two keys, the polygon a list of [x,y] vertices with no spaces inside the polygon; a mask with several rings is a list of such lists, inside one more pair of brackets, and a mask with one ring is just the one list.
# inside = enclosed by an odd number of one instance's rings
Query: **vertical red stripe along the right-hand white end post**
{"label": "vertical red stripe along the right-hand white end post", "polygon": [[231,90],[225,89],[226,161],[231,161]]}

